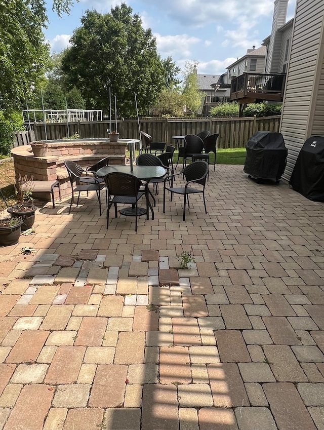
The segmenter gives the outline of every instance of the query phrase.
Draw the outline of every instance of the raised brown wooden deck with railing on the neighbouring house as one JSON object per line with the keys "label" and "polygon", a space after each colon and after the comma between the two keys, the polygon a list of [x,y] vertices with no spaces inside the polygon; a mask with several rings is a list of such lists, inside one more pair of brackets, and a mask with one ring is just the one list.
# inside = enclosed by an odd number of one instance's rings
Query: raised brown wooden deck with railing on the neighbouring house
{"label": "raised brown wooden deck with railing on the neighbouring house", "polygon": [[243,73],[232,77],[231,100],[282,101],[286,73]]}

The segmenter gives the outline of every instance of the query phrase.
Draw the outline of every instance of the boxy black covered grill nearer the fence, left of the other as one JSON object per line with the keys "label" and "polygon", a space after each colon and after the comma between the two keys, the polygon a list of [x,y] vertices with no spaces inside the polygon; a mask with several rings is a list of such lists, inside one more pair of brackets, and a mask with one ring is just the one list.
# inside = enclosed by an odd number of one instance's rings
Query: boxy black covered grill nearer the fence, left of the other
{"label": "boxy black covered grill nearer the fence, left of the other", "polygon": [[281,133],[258,131],[247,143],[244,171],[256,179],[279,180],[286,167],[287,154]]}

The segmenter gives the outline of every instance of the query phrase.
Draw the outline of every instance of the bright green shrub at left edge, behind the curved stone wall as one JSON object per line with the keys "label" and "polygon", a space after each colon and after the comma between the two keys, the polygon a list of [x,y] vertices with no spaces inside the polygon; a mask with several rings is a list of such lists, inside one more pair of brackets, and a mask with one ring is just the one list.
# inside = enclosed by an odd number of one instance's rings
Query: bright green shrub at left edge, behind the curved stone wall
{"label": "bright green shrub at left edge, behind the curved stone wall", "polygon": [[24,130],[20,112],[0,110],[0,154],[9,155],[13,146],[12,134]]}

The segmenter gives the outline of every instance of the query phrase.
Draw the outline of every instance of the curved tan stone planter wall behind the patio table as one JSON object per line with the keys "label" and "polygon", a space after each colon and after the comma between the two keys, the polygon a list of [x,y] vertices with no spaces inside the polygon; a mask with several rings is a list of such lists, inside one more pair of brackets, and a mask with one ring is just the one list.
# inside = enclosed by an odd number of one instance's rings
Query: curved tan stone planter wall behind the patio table
{"label": "curved tan stone planter wall behind the patio table", "polygon": [[[33,176],[34,181],[55,181],[61,184],[61,196],[71,195],[71,186],[65,160],[75,161],[82,167],[91,166],[104,157],[110,157],[110,165],[125,165],[127,143],[111,143],[109,139],[49,140],[45,157],[34,157],[31,146],[13,148],[16,181],[19,174]],[[58,191],[55,190],[58,199]],[[44,198],[44,193],[42,194]],[[46,196],[51,200],[51,194]]]}

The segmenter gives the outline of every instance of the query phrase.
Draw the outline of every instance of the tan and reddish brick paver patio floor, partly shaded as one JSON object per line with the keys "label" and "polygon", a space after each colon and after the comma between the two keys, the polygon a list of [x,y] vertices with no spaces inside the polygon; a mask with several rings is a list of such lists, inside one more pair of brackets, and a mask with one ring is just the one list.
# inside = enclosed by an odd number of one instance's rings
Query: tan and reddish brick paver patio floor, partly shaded
{"label": "tan and reddish brick paver patio floor, partly shaded", "polygon": [[49,203],[0,248],[0,430],[324,429],[323,203],[242,166],[207,216],[162,200],[137,233]]}

